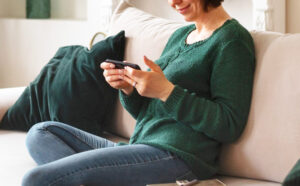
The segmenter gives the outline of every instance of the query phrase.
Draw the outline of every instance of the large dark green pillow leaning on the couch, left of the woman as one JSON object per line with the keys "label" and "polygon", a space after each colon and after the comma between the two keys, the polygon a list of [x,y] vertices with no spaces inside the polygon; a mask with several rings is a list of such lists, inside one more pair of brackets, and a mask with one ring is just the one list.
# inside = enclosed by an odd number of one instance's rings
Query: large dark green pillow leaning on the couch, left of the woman
{"label": "large dark green pillow leaning on the couch, left of the woman", "polygon": [[123,60],[124,31],[95,44],[60,48],[17,102],[0,127],[27,131],[42,121],[60,121],[100,134],[113,116],[117,91],[103,77],[100,63]]}

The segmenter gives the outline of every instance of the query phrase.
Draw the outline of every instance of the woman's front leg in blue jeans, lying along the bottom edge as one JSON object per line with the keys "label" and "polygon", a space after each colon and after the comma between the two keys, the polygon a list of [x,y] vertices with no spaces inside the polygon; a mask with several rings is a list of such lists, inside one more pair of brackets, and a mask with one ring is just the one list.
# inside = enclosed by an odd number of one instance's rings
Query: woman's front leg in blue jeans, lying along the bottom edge
{"label": "woman's front leg in blue jeans, lying along the bottom edge", "polygon": [[81,152],[38,166],[23,186],[145,186],[195,179],[170,152],[148,145],[124,145]]}

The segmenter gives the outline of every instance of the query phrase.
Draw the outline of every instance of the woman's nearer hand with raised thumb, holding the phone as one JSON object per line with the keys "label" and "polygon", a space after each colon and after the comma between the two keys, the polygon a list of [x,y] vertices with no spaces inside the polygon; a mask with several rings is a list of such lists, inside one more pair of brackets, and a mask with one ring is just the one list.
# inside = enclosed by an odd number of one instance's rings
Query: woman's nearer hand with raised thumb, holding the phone
{"label": "woman's nearer hand with raised thumb, holding the phone", "polygon": [[145,64],[151,71],[135,70],[125,67],[124,80],[131,85],[135,85],[141,96],[158,98],[166,101],[174,89],[174,85],[165,77],[160,67],[144,56]]}

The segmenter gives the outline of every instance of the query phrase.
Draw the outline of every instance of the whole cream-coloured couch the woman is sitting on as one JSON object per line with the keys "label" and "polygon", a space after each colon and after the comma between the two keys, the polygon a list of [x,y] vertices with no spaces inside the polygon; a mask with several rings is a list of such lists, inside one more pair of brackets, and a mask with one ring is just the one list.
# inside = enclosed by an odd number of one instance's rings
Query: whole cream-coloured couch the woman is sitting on
{"label": "whole cream-coloured couch the woman is sitting on", "polygon": [[[142,56],[157,59],[172,32],[183,23],[154,17],[122,2],[110,33],[126,31],[125,59],[145,69]],[[224,144],[218,178],[228,186],[276,186],[300,158],[300,34],[251,32],[256,50],[256,72],[246,129],[233,144]],[[23,88],[0,89],[0,119]],[[128,139],[135,121],[117,105],[116,120],[105,137]],[[1,185],[20,185],[35,163],[24,144],[25,133],[0,131]]]}

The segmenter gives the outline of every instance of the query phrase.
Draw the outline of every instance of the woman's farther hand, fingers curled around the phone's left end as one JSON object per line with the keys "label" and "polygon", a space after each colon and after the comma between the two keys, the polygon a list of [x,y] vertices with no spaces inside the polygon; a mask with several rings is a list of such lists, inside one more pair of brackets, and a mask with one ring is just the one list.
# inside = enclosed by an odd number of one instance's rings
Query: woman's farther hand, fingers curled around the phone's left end
{"label": "woman's farther hand, fingers curled around the phone's left end", "polygon": [[133,92],[133,86],[124,81],[124,69],[115,69],[112,63],[103,62],[100,67],[104,70],[103,76],[106,82],[115,89],[121,89],[129,95]]}

